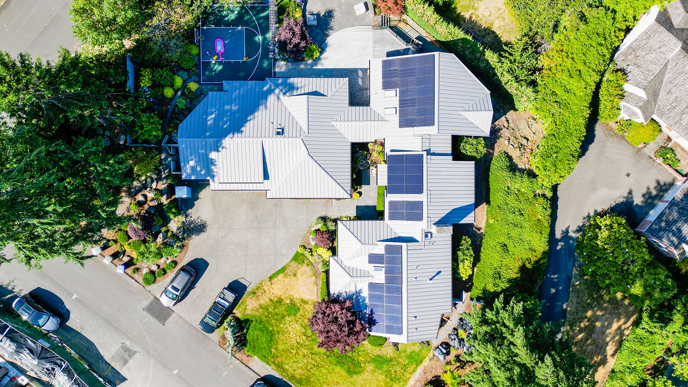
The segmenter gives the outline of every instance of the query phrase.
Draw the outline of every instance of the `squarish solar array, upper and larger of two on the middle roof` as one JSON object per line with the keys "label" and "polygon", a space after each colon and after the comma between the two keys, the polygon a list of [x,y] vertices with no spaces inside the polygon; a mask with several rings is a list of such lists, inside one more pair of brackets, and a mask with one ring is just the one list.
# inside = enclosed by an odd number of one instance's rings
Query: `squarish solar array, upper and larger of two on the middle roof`
{"label": "squarish solar array, upper and larger of two on the middle roof", "polygon": [[387,156],[387,193],[423,193],[423,155]]}

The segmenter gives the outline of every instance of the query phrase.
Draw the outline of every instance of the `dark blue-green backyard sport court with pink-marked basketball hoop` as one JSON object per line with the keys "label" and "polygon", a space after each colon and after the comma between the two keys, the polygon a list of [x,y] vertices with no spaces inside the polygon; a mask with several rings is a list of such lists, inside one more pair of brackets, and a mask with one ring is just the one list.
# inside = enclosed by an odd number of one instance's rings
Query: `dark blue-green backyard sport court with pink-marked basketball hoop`
{"label": "dark blue-green backyard sport court with pink-marked basketball hoop", "polygon": [[268,4],[213,5],[200,21],[201,83],[265,80],[274,74]]}

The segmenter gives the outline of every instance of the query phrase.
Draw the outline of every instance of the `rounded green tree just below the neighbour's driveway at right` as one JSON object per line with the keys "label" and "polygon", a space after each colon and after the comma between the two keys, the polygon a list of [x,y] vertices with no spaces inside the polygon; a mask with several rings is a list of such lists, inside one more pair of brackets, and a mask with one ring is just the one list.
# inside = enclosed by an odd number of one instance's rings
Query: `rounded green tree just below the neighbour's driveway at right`
{"label": "rounded green tree just below the neighbour's driveway at right", "polygon": [[636,305],[657,305],[676,292],[665,267],[649,255],[627,221],[616,214],[590,218],[576,243],[583,271],[602,287],[625,294]]}

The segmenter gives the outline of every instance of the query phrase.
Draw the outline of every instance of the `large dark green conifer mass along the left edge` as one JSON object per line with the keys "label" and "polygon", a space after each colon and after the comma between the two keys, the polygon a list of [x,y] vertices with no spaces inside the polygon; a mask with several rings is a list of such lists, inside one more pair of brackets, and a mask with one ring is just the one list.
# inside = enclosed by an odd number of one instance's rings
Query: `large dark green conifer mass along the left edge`
{"label": "large dark green conifer mass along the left edge", "polygon": [[0,246],[29,267],[44,259],[83,261],[74,246],[93,241],[115,214],[129,162],[103,143],[131,121],[122,74],[106,58],[70,55],[56,63],[0,54]]}

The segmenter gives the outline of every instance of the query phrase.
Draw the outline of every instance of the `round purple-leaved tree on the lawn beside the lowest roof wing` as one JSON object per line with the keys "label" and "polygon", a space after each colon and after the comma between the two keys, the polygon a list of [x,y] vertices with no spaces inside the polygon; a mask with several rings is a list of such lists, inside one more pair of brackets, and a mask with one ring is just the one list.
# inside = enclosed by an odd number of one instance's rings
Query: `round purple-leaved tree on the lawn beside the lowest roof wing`
{"label": "round purple-leaved tree on the lawn beside the lowest roof wing", "polygon": [[316,302],[308,327],[318,335],[318,346],[325,351],[339,349],[339,353],[354,352],[368,337],[367,324],[358,320],[352,308],[352,300],[327,300]]}

